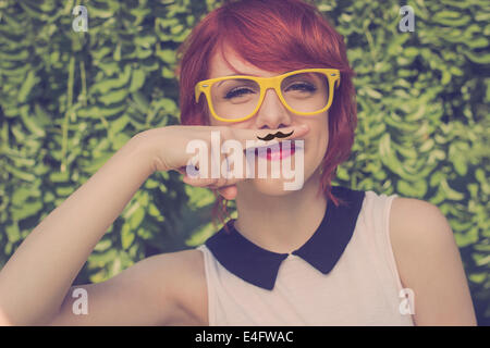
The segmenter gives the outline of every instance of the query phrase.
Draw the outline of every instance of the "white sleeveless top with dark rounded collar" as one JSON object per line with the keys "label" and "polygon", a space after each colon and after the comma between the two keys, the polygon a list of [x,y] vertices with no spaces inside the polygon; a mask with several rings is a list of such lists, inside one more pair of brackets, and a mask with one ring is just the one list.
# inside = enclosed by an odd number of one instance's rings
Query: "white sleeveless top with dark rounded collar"
{"label": "white sleeveless top with dark rounded collar", "polygon": [[[197,247],[204,253],[209,325],[414,325],[389,216],[397,195],[334,186],[352,204],[328,201],[314,236],[293,253],[256,246],[233,226]],[[341,219],[342,217],[342,219]],[[297,252],[297,253],[296,253]],[[406,308],[406,306],[404,306]]]}

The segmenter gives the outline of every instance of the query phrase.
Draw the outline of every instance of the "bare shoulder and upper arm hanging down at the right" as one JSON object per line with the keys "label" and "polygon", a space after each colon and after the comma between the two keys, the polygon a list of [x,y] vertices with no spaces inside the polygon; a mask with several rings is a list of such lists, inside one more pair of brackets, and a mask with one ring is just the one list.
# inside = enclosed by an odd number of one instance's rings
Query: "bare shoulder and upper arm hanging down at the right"
{"label": "bare shoulder and upper arm hanging down at the right", "polygon": [[414,291],[416,325],[476,325],[460,250],[439,208],[395,198],[390,236],[402,283]]}

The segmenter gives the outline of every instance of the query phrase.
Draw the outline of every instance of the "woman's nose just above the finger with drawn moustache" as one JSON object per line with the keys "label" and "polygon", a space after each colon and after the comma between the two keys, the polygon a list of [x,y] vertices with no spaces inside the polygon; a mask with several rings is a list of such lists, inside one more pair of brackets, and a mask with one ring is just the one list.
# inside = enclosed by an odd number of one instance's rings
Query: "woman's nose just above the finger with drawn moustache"
{"label": "woman's nose just above the finger with drawn moustache", "polygon": [[266,126],[270,129],[280,128],[280,125],[287,127],[291,125],[291,115],[282,104],[278,94],[273,88],[266,90],[262,104],[257,111],[256,126],[261,129]]}

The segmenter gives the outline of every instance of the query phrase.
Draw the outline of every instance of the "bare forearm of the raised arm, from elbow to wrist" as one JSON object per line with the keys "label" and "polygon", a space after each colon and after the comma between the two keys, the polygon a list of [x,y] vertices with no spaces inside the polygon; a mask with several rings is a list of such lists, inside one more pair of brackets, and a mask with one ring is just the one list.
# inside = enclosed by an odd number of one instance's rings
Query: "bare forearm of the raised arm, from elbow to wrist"
{"label": "bare forearm of the raised arm, from elbow to wrist", "polygon": [[0,311],[11,323],[57,313],[94,247],[151,172],[132,139],[28,235],[0,271]]}

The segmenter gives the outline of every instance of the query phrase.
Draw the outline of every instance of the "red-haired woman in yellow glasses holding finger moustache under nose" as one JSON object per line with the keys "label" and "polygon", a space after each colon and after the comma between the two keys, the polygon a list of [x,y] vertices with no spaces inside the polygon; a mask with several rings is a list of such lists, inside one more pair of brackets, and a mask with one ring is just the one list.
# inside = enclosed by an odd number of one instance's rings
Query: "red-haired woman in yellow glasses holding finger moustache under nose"
{"label": "red-haired woman in yellow glasses holding finger moustache under nose", "polygon": [[[0,272],[4,324],[476,323],[457,246],[437,207],[331,186],[354,140],[353,72],[342,37],[313,5],[230,2],[196,26],[181,52],[183,125],[136,135],[22,243]],[[301,187],[284,189],[284,176],[193,178],[186,147],[199,140],[211,158],[212,132],[243,149],[277,132],[282,144],[301,144],[252,160],[270,172],[290,154],[303,171]],[[145,179],[170,170],[235,199],[238,217],[196,249],[71,286]],[[87,314],[73,313],[75,288],[88,294]]]}

